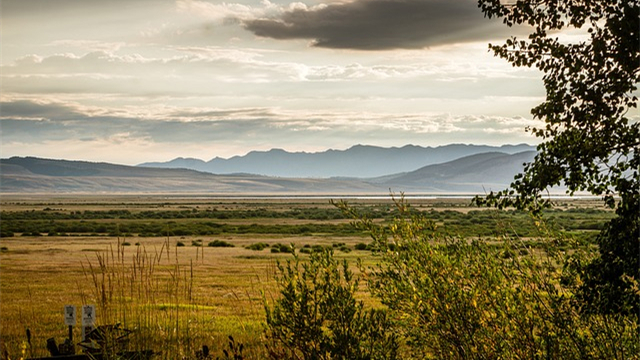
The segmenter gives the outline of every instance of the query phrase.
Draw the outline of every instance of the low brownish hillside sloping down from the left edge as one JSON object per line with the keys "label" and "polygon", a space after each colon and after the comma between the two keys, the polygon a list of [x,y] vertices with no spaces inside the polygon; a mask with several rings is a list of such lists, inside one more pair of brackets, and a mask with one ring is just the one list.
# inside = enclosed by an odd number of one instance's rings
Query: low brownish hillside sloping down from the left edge
{"label": "low brownish hillside sloping down from the left edge", "polygon": [[185,169],[139,168],[33,157],[0,159],[2,193],[371,193],[361,181],[214,175]]}

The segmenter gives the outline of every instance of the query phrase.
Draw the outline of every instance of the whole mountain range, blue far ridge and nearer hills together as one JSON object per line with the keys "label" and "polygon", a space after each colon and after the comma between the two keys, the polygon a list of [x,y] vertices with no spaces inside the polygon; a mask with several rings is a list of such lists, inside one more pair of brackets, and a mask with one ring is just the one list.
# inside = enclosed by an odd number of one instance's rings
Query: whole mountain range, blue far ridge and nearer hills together
{"label": "whole mountain range, blue far ridge and nearer hills together", "polygon": [[[447,153],[447,149],[451,152]],[[522,149],[525,151],[517,151]],[[422,194],[482,194],[485,191],[506,188],[513,176],[522,171],[523,164],[533,160],[536,152],[531,149],[532,147],[527,145],[499,148],[450,145],[441,148],[356,146],[345,151],[330,150],[313,154],[271,150],[227,159],[226,164],[229,164],[229,167],[225,171],[230,171],[231,165],[235,164],[233,166],[241,170],[241,173],[235,174],[214,174],[188,169],[185,168],[185,164],[208,163],[178,159],[165,163],[164,167],[151,167],[150,163],[144,166],[126,166],[12,157],[0,159],[0,193],[358,195],[388,194],[391,189],[396,192]],[[396,169],[410,167],[410,162],[398,155],[403,151],[407,154],[406,158],[417,160],[414,160],[412,169],[396,172]],[[349,169],[344,164],[355,166],[357,153],[361,155],[358,169],[364,169],[362,171]],[[427,156],[426,153],[433,155],[422,158]],[[333,164],[328,159],[333,159],[338,164]],[[257,169],[247,167],[251,163],[256,164]],[[424,165],[425,163],[427,165]],[[170,168],[169,164],[183,166]],[[218,161],[213,164],[225,162]],[[367,170],[363,164],[375,169]],[[271,173],[277,175],[260,174],[268,169],[268,165],[271,165]],[[302,169],[313,171],[303,172]],[[285,176],[287,173],[299,175]],[[321,177],[321,174],[332,175]],[[360,176],[353,176],[354,174]]]}

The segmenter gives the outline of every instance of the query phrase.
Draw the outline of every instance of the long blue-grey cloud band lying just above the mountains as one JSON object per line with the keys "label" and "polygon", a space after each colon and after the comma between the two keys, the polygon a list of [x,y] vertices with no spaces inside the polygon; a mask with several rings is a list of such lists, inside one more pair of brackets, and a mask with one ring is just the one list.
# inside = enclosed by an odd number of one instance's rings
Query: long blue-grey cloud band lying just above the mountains
{"label": "long blue-grey cloud band lying just above the mountains", "polygon": [[[144,109],[138,108],[95,108],[72,102],[44,103],[28,99],[4,101],[0,105],[3,151],[10,154],[23,151],[25,143],[42,146],[65,139],[111,144],[100,151],[104,153],[117,149],[123,138],[164,144],[174,148],[175,156],[187,155],[180,149],[193,144],[198,144],[203,153],[221,144],[242,145],[249,151],[282,147],[286,143],[292,147],[290,150],[296,150],[306,146],[346,148],[354,143],[401,146],[434,139],[437,144],[469,142],[469,139],[489,139],[504,133],[511,133],[522,142],[526,135],[524,127],[531,125],[531,121],[524,118],[442,113],[398,115],[279,108],[166,108],[157,113],[144,113]],[[59,152],[55,148],[49,151]]]}

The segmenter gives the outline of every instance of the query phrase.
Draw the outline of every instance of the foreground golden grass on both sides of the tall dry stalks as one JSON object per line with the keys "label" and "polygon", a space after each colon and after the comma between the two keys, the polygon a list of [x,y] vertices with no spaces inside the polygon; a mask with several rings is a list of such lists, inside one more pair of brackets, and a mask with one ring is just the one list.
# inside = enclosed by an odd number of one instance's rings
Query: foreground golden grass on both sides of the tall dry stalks
{"label": "foreground golden grass on both sides of the tall dry stalks", "polygon": [[[166,241],[141,239],[140,247],[156,254]],[[117,239],[19,238],[3,240],[2,244],[10,249],[0,258],[2,339],[7,343],[19,343],[26,340],[25,329],[30,328],[34,355],[43,356],[47,338],[62,340],[66,337],[62,307],[96,303],[92,296],[94,284],[91,277],[85,275],[83,266],[85,269],[89,264],[97,266],[96,252],[110,254],[111,248],[117,248]],[[133,259],[138,247],[123,249],[123,263],[129,266],[133,260],[128,262],[126,259]],[[230,334],[242,341],[259,334],[260,292],[270,289],[269,269],[273,266],[272,259],[278,255],[260,258],[254,251],[237,247],[191,246],[172,246],[169,253],[169,260],[165,255],[160,262],[167,269],[173,269],[176,263],[181,264],[183,271],[193,268],[193,304],[205,309],[196,315],[205,319],[211,330],[210,334],[203,334],[203,341],[211,336],[208,341],[220,343]],[[166,271],[161,270],[156,271],[156,276],[167,276]],[[164,301],[156,305],[162,305]],[[98,313],[98,321],[104,315]],[[76,330],[76,338],[79,338],[79,326]]]}

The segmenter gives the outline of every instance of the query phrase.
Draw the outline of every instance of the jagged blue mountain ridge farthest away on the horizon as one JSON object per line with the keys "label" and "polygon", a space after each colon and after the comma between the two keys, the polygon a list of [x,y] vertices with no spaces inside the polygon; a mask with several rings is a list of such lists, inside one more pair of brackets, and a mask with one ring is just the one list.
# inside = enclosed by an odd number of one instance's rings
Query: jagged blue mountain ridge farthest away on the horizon
{"label": "jagged blue mountain ridge farthest away on the horizon", "polygon": [[384,148],[356,145],[347,150],[323,152],[288,152],[282,149],[252,151],[229,159],[216,157],[209,161],[176,158],[168,162],[148,162],[140,167],[184,168],[213,174],[259,174],[265,176],[329,178],[371,178],[413,171],[427,165],[452,161],[461,157],[501,152],[515,154],[534,151],[535,147],[519,145],[465,145],[450,144],[438,147],[406,145]]}

